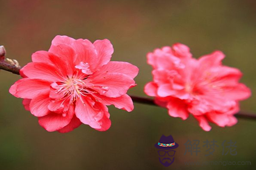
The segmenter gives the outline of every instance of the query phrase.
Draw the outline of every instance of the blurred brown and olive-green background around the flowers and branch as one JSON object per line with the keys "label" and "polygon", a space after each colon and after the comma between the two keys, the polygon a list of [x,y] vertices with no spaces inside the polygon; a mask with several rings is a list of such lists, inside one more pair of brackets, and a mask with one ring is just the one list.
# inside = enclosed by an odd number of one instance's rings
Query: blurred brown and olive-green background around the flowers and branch
{"label": "blurred brown and olive-green background around the flowers and branch", "polygon": [[[110,39],[112,60],[137,65],[138,86],[129,94],[146,96],[143,86],[151,81],[146,53],[157,47],[182,42],[194,57],[222,50],[224,64],[244,73],[241,82],[256,92],[256,3],[216,1],[0,1],[0,44],[7,57],[21,66],[37,50],[48,50],[55,35]],[[136,104],[133,112],[110,106],[112,127],[98,132],[84,125],[68,134],[47,132],[37,118],[24,110],[9,87],[20,77],[0,71],[0,169],[255,169],[256,120],[239,119],[233,127],[213,125],[204,132],[197,121],[172,118],[167,110]],[[241,102],[241,110],[256,113],[256,97]],[[154,144],[162,134],[179,143],[174,163],[158,162]],[[219,148],[205,157],[205,140]],[[200,140],[201,153],[186,154],[185,142]],[[236,156],[222,155],[221,143],[236,141]],[[227,143],[226,143],[227,144]],[[186,166],[184,161],[251,161],[251,166]]]}

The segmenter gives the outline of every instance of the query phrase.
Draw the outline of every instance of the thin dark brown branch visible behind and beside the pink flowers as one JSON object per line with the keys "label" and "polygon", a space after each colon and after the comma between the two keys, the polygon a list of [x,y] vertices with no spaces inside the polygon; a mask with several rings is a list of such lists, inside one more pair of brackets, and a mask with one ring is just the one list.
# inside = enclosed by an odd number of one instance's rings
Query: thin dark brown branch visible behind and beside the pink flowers
{"label": "thin dark brown branch visible behind and beside the pink flowers", "polygon": [[[1,47],[1,46],[0,46]],[[0,48],[1,50],[1,48]],[[4,51],[5,52],[5,51]],[[3,55],[4,56],[4,55]],[[0,56],[1,57],[1,56]],[[12,61],[12,60],[11,60]],[[13,60],[16,62],[16,60]],[[17,62],[18,63],[18,62]],[[7,72],[12,72],[15,73],[17,75],[20,75],[20,69],[21,67],[18,65],[13,65],[13,64],[9,64],[5,61],[1,61],[0,60],[0,69],[2,70],[6,70]],[[153,105],[153,106],[158,106],[157,104],[155,104],[154,99],[151,98],[146,98],[146,97],[137,97],[137,96],[133,96],[130,95],[130,97],[132,98],[132,100],[134,102],[137,103],[142,103],[142,104],[149,104],[149,105]],[[158,106],[160,107],[160,106]],[[254,113],[247,113],[247,112],[238,112],[236,115],[236,117],[238,118],[245,118],[245,119],[256,119],[256,114]]]}

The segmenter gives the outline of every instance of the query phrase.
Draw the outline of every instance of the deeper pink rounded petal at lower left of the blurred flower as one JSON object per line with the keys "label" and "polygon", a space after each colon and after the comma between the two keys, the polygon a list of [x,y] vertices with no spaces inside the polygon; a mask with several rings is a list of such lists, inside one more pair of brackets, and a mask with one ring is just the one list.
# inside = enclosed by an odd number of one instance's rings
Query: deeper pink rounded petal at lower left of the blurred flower
{"label": "deeper pink rounded petal at lower left of the blurred flower", "polygon": [[182,120],[186,120],[189,116],[187,104],[182,100],[170,100],[166,107],[171,117],[180,117]]}

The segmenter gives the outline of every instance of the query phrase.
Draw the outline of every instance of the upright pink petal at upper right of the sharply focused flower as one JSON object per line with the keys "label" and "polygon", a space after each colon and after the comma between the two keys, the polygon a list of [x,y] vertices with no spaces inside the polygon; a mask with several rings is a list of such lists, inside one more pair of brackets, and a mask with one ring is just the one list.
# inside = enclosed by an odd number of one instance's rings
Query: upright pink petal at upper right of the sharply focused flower
{"label": "upright pink petal at upper right of the sharply focused flower", "polygon": [[107,64],[114,52],[111,42],[108,39],[103,39],[93,42],[93,45],[97,51],[98,66]]}

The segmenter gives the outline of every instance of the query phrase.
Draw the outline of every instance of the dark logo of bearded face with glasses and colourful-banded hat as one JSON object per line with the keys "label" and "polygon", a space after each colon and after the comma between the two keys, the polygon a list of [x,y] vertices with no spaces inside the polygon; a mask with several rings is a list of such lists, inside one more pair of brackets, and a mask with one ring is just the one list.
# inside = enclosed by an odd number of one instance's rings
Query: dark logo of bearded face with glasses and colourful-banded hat
{"label": "dark logo of bearded face with glasses and colourful-banded hat", "polygon": [[172,135],[166,137],[162,135],[158,143],[155,143],[155,148],[157,148],[158,159],[163,166],[170,166],[174,161],[174,154],[176,148],[179,147],[179,144],[174,142]]}

